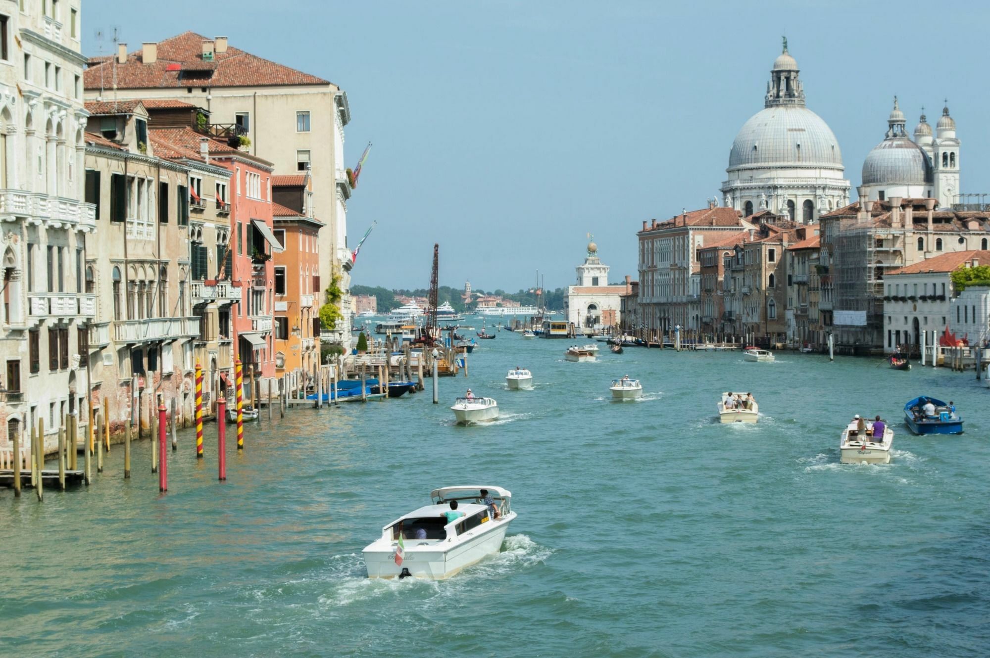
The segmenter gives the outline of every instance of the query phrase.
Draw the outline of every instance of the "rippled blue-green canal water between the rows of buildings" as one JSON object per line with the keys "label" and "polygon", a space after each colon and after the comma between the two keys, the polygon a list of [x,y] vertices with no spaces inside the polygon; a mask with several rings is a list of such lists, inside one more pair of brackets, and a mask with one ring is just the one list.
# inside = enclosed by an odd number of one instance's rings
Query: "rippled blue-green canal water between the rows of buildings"
{"label": "rippled blue-green canal water between the rows of buildings", "polygon": [[[415,396],[248,424],[216,481],[191,433],[157,493],[148,442],[92,486],[0,490],[0,654],[196,656],[984,656],[990,647],[986,389],[881,359],[603,349],[506,331],[470,377]],[[604,347],[604,345],[603,345]],[[507,391],[515,366],[533,391]],[[613,403],[629,374],[640,402]],[[470,386],[497,423],[460,427]],[[755,425],[720,425],[724,390]],[[912,436],[910,398],[961,436]],[[886,466],[839,463],[852,414],[896,431]],[[369,581],[361,548],[445,485],[495,484],[501,554],[445,582]]]}

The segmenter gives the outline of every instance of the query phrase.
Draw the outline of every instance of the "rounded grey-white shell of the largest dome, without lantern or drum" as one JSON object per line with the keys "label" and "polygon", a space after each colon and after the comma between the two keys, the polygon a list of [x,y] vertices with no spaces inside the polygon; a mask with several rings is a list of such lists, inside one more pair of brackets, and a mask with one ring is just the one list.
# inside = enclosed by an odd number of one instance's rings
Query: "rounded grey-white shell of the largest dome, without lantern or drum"
{"label": "rounded grey-white shell of the largest dome, without lantern or drum", "polygon": [[764,108],[750,117],[736,136],[728,171],[769,166],[841,170],[839,141],[829,125],[806,107]]}

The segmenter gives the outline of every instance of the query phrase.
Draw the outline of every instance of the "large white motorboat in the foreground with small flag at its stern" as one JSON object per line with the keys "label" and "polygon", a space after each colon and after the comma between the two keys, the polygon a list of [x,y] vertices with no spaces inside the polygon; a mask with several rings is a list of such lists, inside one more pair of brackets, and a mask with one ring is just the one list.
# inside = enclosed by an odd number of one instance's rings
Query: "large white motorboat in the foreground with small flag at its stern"
{"label": "large white motorboat in the foreground with small flag at its stern", "polygon": [[[494,501],[496,514],[484,504],[482,490]],[[430,498],[433,505],[393,520],[364,547],[368,578],[440,580],[501,551],[516,517],[511,492],[493,486],[445,487]]]}

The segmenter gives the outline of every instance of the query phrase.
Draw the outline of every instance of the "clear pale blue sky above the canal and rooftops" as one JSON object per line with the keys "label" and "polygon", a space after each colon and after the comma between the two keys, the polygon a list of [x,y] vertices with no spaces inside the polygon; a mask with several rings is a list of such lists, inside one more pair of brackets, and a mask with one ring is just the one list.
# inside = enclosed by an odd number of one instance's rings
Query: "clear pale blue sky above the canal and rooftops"
{"label": "clear pale blue sky above the canal and rooftops", "polygon": [[351,248],[377,222],[351,283],[425,288],[439,242],[442,285],[515,291],[538,270],[573,283],[588,233],[610,280],[636,278],[643,221],[718,193],[781,36],[853,199],[895,94],[909,131],[948,99],[961,191],[990,192],[988,19],[964,2],[86,0],[82,34],[86,54],[113,47],[97,30],[130,50],[227,36],[332,80],[347,166],[374,144],[347,205]]}

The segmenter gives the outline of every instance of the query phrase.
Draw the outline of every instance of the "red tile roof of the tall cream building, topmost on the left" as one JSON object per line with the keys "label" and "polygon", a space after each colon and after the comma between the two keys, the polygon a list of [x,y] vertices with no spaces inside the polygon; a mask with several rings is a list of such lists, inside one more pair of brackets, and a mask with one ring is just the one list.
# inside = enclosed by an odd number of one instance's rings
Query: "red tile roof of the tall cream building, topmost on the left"
{"label": "red tile roof of the tall cream building, topmost on the left", "polygon": [[83,72],[83,84],[86,89],[108,86],[114,79],[111,71],[106,70],[111,66],[116,67],[120,89],[331,84],[231,46],[226,52],[215,52],[213,61],[203,61],[204,41],[210,40],[194,32],[166,39],[158,43],[157,58],[150,64],[145,63],[143,50],[129,53],[125,64],[114,64],[115,57],[90,58],[89,68]]}

